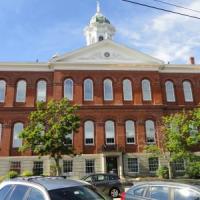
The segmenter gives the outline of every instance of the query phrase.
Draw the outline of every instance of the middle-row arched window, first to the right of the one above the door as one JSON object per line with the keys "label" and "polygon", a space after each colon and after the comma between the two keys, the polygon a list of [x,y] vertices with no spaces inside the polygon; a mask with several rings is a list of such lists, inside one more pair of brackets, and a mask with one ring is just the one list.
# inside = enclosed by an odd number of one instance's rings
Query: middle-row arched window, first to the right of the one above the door
{"label": "middle-row arched window, first to the right of the one above the door", "polygon": [[134,144],[135,143],[135,123],[132,120],[127,120],[125,122],[126,129],[126,143]]}

